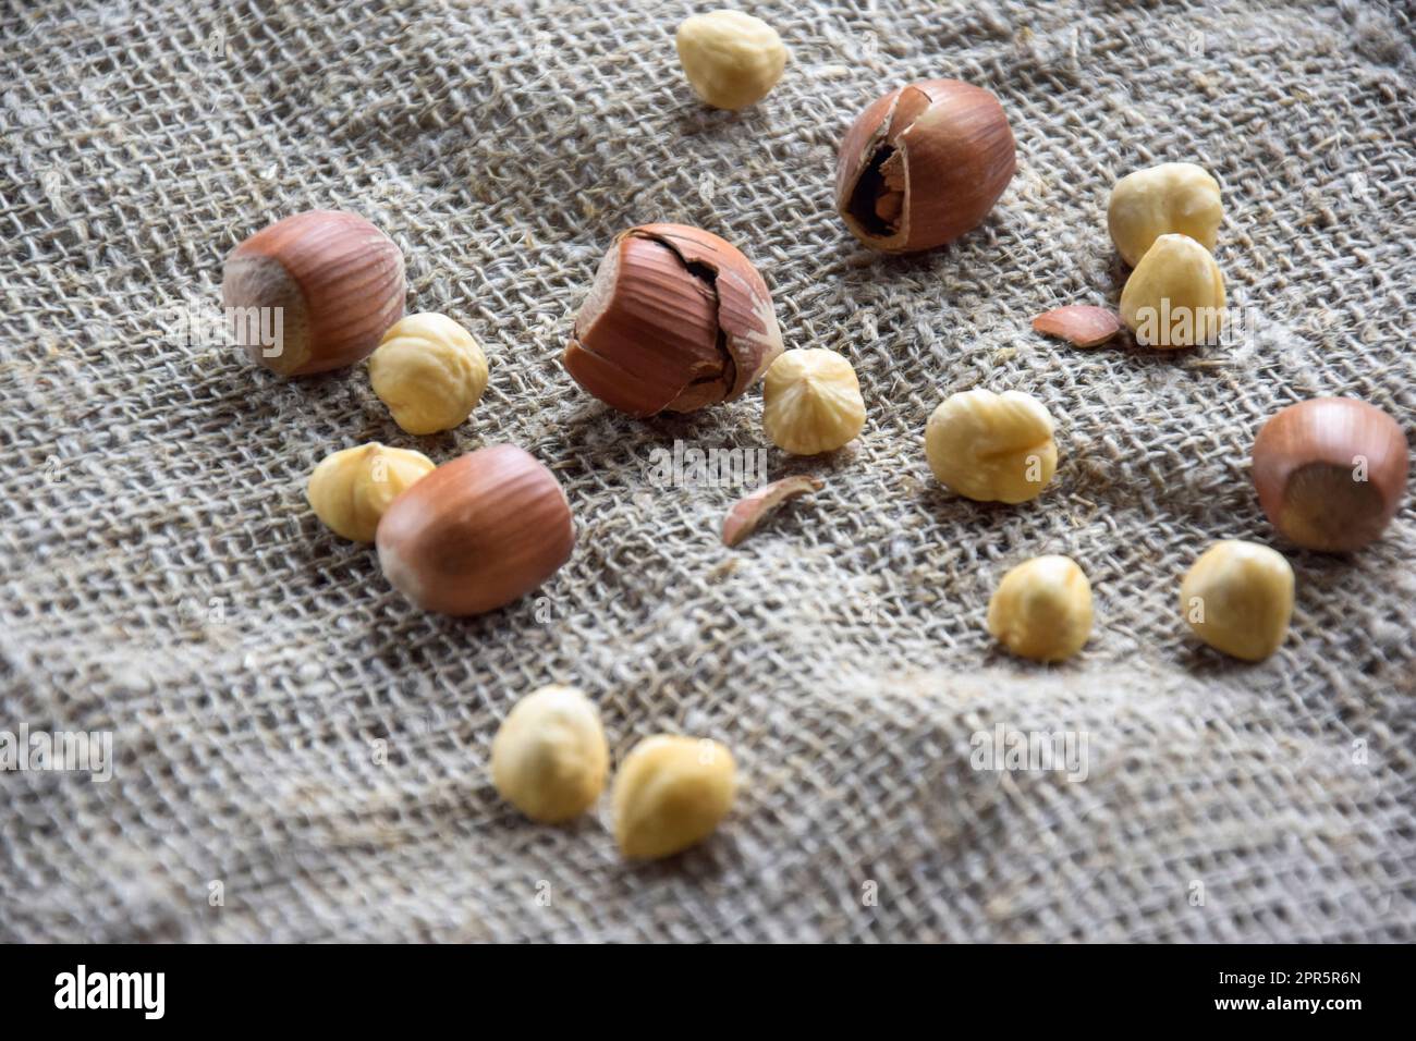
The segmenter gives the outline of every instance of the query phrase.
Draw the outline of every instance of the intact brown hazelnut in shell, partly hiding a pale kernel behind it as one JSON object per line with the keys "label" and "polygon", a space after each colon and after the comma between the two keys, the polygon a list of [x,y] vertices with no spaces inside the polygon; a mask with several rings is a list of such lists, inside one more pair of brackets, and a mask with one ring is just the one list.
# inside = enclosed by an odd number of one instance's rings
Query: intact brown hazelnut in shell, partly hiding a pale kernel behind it
{"label": "intact brown hazelnut in shell, partly hiding a pale kernel behind it", "polygon": [[551,578],[575,530],[551,472],[496,445],[443,463],[395,499],[375,541],[385,578],[415,605],[480,615]]}

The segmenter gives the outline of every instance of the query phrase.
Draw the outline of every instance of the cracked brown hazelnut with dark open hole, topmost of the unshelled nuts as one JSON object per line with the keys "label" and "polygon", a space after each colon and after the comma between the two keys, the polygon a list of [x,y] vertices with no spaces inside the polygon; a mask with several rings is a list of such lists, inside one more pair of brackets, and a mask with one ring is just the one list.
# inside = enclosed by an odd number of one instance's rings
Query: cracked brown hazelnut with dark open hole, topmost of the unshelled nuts
{"label": "cracked brown hazelnut with dark open hole, topmost of the unshelled nuts", "polygon": [[868,246],[930,249],[978,227],[1017,166],[997,98],[957,79],[926,79],[878,98],[847,130],[835,210]]}

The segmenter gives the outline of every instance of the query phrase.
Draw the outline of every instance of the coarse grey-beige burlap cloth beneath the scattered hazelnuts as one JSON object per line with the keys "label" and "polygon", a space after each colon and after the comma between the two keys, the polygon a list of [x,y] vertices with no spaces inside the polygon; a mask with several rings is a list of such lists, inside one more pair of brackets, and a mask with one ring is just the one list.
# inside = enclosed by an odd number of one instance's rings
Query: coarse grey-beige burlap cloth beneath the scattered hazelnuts
{"label": "coarse grey-beige burlap cloth beneath the scattered hazelnuts", "polygon": [[[762,3],[777,89],[701,106],[690,7],[10,3],[0,20],[0,729],[109,731],[109,782],[0,775],[8,940],[1412,940],[1416,511],[1351,558],[1281,542],[1249,449],[1293,401],[1416,406],[1416,18],[1385,3]],[[835,144],[916,78],[994,91],[1018,174],[954,245],[888,259],[833,212]],[[1028,320],[1114,305],[1110,186],[1192,159],[1242,337],[1076,350]],[[411,438],[362,367],[282,381],[204,336],[221,262],[307,208],[408,258],[411,312],[484,344],[470,422]],[[869,418],[739,550],[732,487],[658,487],[657,448],[759,448],[760,392],[632,421],[558,355],[612,237],[702,225],[772,288],[789,347],[851,358]],[[983,506],[929,474],[933,406],[1041,398],[1061,466]],[[423,615],[304,501],[364,440],[514,442],[575,511],[569,564],[476,619]],[[1283,550],[1293,632],[1197,644],[1180,576]],[[1003,572],[1075,557],[1083,654],[984,627]],[[487,779],[551,683],[613,753],[726,742],[721,830],[624,864],[607,799],[538,827]],[[1085,736],[1086,776],[974,769],[974,735]]]}

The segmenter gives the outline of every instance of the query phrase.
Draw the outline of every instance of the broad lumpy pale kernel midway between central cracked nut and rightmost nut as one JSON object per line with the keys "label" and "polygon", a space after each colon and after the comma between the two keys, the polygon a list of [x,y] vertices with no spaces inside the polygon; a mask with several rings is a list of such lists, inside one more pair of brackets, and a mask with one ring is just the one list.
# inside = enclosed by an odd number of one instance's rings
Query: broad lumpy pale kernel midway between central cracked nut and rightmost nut
{"label": "broad lumpy pale kernel midway between central cracked nut and rightmost nut", "polygon": [[940,482],[983,503],[1035,499],[1058,467],[1052,416],[1018,391],[944,398],[925,428],[925,455]]}

